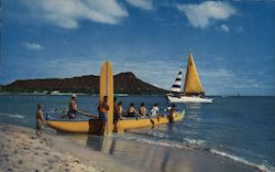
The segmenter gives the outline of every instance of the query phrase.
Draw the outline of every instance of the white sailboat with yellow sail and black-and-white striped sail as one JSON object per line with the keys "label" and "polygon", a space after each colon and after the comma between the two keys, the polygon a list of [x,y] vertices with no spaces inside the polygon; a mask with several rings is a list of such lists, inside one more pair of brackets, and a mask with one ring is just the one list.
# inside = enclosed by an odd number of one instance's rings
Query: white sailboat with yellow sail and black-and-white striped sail
{"label": "white sailboat with yellow sail and black-and-white striped sail", "polygon": [[191,53],[189,53],[187,63],[184,92],[182,92],[182,77],[183,67],[180,67],[172,85],[170,93],[167,94],[167,98],[170,103],[212,103],[212,98],[205,96],[205,89],[200,83]]}

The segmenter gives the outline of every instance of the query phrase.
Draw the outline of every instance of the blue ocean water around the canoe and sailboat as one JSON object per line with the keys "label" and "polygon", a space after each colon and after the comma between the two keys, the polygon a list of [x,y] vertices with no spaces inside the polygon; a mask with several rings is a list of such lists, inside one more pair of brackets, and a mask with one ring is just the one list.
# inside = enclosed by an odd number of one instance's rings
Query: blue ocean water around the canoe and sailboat
{"label": "blue ocean water around the canoe and sailboat", "polygon": [[[79,109],[96,114],[97,96],[78,96]],[[118,97],[127,109],[143,101],[147,108],[158,103],[168,105],[164,96]],[[69,96],[0,95],[0,122],[35,127],[36,104],[44,111],[62,111]],[[185,109],[180,122],[114,135],[116,140],[148,144],[194,148],[210,151],[233,161],[275,171],[275,97],[215,97],[212,104],[176,104]]]}

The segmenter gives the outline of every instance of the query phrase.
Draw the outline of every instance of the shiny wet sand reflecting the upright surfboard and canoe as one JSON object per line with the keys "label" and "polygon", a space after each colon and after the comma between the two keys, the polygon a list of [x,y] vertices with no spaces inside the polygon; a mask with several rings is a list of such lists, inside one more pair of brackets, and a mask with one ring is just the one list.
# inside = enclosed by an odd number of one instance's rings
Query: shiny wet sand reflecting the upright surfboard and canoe
{"label": "shiny wet sand reflecting the upright surfboard and canoe", "polygon": [[[220,163],[213,154],[199,150],[152,146],[113,137],[87,136],[87,147],[111,155],[120,164],[139,171],[238,171],[231,162]],[[211,169],[215,166],[215,169]],[[217,168],[218,166],[218,168]],[[240,166],[239,166],[240,168]],[[246,169],[248,170],[248,169]]]}

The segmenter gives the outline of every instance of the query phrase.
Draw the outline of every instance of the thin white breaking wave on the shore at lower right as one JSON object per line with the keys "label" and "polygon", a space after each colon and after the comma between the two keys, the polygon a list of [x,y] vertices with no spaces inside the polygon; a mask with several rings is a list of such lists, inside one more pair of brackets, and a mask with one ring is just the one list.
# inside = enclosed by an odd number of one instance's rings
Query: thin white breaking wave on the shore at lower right
{"label": "thin white breaking wave on the shore at lower right", "polygon": [[231,159],[233,161],[237,161],[237,162],[240,162],[240,163],[243,163],[248,166],[252,166],[252,168],[255,168],[260,171],[263,171],[263,172],[272,172],[272,171],[275,171],[275,168],[274,166],[267,166],[265,164],[257,164],[257,163],[254,163],[254,162],[250,162],[243,158],[240,158],[240,157],[237,157],[237,155],[232,155],[232,154],[229,154],[227,152],[222,152],[222,151],[219,151],[219,150],[215,150],[215,149],[210,149],[210,152],[211,153],[215,153],[215,154],[218,154],[218,155],[222,155],[222,157],[226,157],[228,159]]}

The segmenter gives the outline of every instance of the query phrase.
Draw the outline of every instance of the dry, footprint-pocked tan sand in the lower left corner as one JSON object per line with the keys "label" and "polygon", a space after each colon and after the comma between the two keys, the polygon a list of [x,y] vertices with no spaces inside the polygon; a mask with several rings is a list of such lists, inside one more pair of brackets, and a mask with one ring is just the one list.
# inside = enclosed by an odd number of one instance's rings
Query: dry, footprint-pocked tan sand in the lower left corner
{"label": "dry, footprint-pocked tan sand in the lower left corner", "polygon": [[33,129],[0,125],[0,138],[1,171],[103,171],[57,150],[48,136],[37,137]]}

